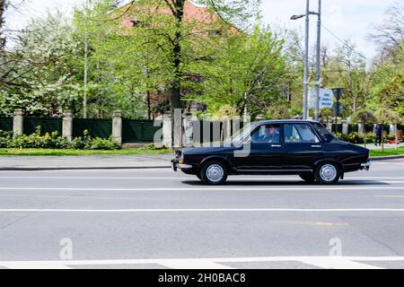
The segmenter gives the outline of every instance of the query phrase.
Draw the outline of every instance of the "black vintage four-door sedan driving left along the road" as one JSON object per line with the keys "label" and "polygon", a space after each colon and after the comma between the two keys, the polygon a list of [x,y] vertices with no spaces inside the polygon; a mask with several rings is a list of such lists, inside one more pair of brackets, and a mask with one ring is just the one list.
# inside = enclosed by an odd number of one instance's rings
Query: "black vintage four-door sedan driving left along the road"
{"label": "black vintage four-door sedan driving left along the road", "polygon": [[218,146],[184,148],[173,170],[208,185],[228,175],[299,175],[307,182],[335,184],[346,172],[369,170],[369,150],[338,140],[317,121],[273,120],[244,126]]}

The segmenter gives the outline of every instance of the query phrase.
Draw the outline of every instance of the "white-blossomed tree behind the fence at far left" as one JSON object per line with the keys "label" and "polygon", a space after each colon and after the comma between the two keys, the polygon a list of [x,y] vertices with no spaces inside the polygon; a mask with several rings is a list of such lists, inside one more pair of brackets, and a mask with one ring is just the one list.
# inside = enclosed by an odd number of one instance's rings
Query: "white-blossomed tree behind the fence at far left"
{"label": "white-blossomed tree behind the fence at far left", "polygon": [[2,114],[10,116],[15,108],[35,116],[75,109],[80,89],[75,83],[75,55],[82,43],[73,37],[72,27],[60,13],[34,19],[26,30],[10,52],[13,67],[3,76]]}

